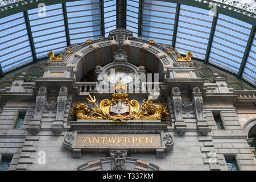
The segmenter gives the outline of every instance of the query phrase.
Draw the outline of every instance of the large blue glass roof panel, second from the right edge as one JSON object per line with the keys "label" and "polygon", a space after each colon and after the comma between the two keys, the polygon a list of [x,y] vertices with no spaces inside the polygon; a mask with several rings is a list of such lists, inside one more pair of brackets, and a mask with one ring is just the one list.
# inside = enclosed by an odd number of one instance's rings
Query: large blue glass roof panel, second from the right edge
{"label": "large blue glass roof panel, second from the right edge", "polygon": [[252,25],[218,15],[209,62],[238,73]]}

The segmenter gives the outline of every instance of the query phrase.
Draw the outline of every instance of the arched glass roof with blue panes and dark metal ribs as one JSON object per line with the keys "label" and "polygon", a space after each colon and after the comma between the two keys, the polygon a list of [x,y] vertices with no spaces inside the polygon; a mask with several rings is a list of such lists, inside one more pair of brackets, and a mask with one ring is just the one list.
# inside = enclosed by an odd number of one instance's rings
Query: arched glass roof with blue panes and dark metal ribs
{"label": "arched glass roof with blue panes and dark metal ribs", "polygon": [[[16,1],[1,1],[0,6]],[[125,27],[135,37],[170,44],[181,53],[225,69],[256,85],[255,24],[208,9],[166,1],[127,0]],[[254,0],[214,0],[256,13]],[[108,36],[118,28],[117,0],[63,1],[5,16],[0,19],[0,64],[3,73],[23,64],[60,53],[71,44]],[[8,10],[9,11],[9,10]],[[229,11],[229,10],[227,10]],[[246,19],[246,17],[245,17]]]}

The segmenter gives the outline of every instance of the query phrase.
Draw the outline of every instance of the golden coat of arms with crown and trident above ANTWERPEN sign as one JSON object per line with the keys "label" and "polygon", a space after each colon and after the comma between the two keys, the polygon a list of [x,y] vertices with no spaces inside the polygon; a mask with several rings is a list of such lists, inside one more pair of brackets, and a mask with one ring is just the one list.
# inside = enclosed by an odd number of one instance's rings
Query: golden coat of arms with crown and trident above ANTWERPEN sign
{"label": "golden coat of arms with crown and trident above ANTWERPEN sign", "polygon": [[166,119],[167,106],[159,102],[158,105],[148,99],[144,99],[139,108],[139,102],[128,100],[127,93],[113,93],[112,100],[104,99],[100,102],[100,107],[96,104],[95,96],[90,96],[87,100],[94,104],[91,109],[86,104],[77,102],[73,105],[71,117],[75,119],[110,119],[113,121],[129,119]]}

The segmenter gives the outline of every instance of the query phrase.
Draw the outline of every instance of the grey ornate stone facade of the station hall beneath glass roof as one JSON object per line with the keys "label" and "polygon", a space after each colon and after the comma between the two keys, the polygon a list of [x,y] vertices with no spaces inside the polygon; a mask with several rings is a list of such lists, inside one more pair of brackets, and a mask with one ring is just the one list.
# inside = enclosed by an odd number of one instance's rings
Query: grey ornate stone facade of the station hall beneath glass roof
{"label": "grey ornate stone facade of the station hall beneath glass roof", "polygon": [[[115,56],[119,49],[127,55]],[[60,55],[64,60],[49,60],[43,77],[35,78],[35,82],[26,82],[23,74],[14,77],[10,87],[0,89],[0,160],[11,159],[10,170],[225,171],[226,160],[230,159],[239,170],[256,170],[250,150],[253,140],[249,138],[256,131],[255,89],[234,90],[217,74],[213,83],[204,83],[196,76],[192,61],[177,61],[180,55],[176,49],[134,38],[130,31],[122,29],[111,31],[108,38],[65,48]],[[148,95],[154,103],[163,101],[170,113],[167,120],[102,124],[97,119],[72,119],[72,105],[86,102],[89,94],[96,96],[97,102],[111,97],[97,90],[100,80],[80,82],[85,73],[95,69],[99,75],[108,72],[110,65],[117,70],[127,67],[132,73],[159,73],[155,81],[159,92],[138,84],[138,92],[129,93],[129,98],[139,104]],[[21,115],[23,125],[16,129]],[[218,115],[222,129],[214,119]],[[69,140],[64,140],[68,133],[76,131],[162,132],[161,136],[168,133],[174,140],[168,150],[127,147],[82,151],[76,146],[67,147]],[[164,142],[164,138],[161,140]]]}

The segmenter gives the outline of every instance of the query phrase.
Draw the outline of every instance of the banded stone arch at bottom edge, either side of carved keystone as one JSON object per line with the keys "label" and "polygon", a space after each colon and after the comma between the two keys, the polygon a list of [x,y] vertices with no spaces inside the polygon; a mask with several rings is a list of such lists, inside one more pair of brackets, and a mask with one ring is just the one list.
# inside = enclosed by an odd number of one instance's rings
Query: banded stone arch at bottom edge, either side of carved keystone
{"label": "banded stone arch at bottom edge, either side of carved keystone", "polygon": [[[102,158],[100,160],[94,160],[89,163],[82,164],[77,168],[78,171],[112,171],[112,159]],[[163,171],[155,164],[145,162],[143,160],[138,160],[135,158],[126,158],[126,171]]]}

